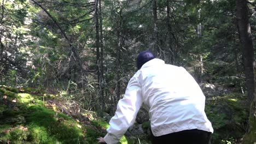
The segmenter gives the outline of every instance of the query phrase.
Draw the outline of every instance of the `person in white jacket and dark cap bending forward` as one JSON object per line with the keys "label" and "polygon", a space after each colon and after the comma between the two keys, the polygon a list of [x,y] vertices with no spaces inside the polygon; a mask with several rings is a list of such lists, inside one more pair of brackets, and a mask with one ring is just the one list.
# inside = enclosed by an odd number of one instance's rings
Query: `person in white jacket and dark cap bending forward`
{"label": "person in white jacket and dark cap bending forward", "polygon": [[205,113],[205,95],[193,76],[150,51],[140,52],[136,63],[138,71],[118,102],[107,135],[98,142],[118,143],[143,104],[149,113],[152,143],[210,143],[213,128]]}

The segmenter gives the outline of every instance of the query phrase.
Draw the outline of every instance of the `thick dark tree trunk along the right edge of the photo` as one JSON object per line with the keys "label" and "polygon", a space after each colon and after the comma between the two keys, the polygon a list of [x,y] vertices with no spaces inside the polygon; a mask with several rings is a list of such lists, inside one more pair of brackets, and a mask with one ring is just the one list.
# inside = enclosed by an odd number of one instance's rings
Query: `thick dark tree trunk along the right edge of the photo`
{"label": "thick dark tree trunk along the right edge of the photo", "polygon": [[243,64],[245,66],[246,75],[246,87],[248,93],[248,99],[251,103],[250,116],[249,116],[249,129],[248,133],[245,135],[243,143],[254,143],[256,142],[256,107],[255,107],[255,97],[254,97],[254,72],[253,72],[253,41],[251,26],[249,24],[248,18],[248,8],[247,2],[245,0],[236,1],[236,19],[237,27],[240,38],[240,43],[242,46],[243,53]]}

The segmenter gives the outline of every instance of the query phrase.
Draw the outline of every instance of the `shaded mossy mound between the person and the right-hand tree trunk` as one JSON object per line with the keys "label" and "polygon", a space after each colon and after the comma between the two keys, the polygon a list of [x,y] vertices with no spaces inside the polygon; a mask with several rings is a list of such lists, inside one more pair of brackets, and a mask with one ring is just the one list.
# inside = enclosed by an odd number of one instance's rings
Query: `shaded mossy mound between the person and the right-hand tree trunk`
{"label": "shaded mossy mound between the person and the right-hand tree trunk", "polygon": [[214,129],[212,143],[241,143],[248,127],[246,96],[232,93],[207,101],[205,111]]}

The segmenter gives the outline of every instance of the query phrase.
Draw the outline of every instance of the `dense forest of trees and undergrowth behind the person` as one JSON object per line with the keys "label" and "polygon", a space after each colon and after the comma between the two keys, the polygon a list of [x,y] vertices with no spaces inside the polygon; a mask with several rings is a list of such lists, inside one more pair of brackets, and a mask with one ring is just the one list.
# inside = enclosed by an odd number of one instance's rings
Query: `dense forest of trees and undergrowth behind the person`
{"label": "dense forest of trees and undergrowth behind the person", "polygon": [[1,0],[0,85],[111,116],[150,50],[200,84],[212,143],[253,143],[255,10],[243,0]]}

